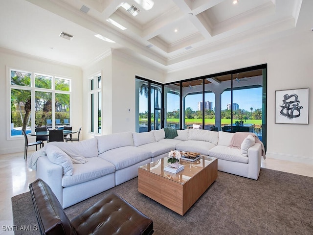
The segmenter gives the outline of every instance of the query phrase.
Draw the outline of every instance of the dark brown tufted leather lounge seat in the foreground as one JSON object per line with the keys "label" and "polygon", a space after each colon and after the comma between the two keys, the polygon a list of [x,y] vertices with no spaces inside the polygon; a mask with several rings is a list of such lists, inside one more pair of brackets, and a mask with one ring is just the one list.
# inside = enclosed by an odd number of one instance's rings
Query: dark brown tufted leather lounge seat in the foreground
{"label": "dark brown tufted leather lounge seat in the foreground", "polygon": [[43,235],[151,235],[153,221],[115,193],[69,220],[51,188],[41,179],[29,185]]}

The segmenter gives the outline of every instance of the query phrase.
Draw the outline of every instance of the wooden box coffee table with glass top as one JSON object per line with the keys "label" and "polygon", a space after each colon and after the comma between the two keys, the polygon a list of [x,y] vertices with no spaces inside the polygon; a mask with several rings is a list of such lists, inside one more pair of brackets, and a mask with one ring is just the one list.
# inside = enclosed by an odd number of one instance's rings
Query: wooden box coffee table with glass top
{"label": "wooden box coffee table with glass top", "polygon": [[138,191],[183,215],[217,179],[217,158],[201,156],[192,163],[180,160],[184,169],[176,174],[164,171],[168,158],[138,168]]}

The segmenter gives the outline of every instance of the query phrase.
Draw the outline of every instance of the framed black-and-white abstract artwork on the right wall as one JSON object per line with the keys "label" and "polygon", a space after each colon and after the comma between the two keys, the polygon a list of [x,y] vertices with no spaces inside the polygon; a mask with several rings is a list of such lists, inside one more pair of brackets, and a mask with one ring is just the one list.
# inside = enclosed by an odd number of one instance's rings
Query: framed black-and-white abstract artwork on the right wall
{"label": "framed black-and-white abstract artwork on the right wall", "polygon": [[275,123],[309,124],[309,88],[275,91]]}

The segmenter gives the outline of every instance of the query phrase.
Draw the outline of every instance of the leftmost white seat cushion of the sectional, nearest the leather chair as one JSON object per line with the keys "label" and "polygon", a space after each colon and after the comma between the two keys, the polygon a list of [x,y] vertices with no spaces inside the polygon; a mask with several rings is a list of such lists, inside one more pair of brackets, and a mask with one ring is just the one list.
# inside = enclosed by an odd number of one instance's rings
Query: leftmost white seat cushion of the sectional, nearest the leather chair
{"label": "leftmost white seat cushion of the sectional, nearest the leather chair", "polygon": [[85,164],[73,164],[73,175],[62,177],[62,187],[70,187],[108,175],[115,171],[115,166],[108,161],[93,157]]}

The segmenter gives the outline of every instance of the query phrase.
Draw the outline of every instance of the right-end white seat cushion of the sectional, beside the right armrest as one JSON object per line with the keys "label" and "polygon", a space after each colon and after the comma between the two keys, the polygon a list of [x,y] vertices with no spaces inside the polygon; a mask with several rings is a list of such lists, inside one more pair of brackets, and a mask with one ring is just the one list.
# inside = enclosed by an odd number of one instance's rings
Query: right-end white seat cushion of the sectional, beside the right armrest
{"label": "right-end white seat cushion of the sectional, beside the right armrest", "polygon": [[248,163],[248,158],[243,156],[238,148],[217,145],[209,150],[209,156],[238,163]]}

